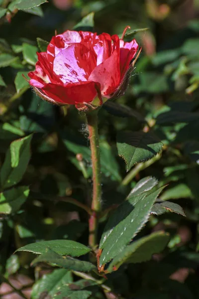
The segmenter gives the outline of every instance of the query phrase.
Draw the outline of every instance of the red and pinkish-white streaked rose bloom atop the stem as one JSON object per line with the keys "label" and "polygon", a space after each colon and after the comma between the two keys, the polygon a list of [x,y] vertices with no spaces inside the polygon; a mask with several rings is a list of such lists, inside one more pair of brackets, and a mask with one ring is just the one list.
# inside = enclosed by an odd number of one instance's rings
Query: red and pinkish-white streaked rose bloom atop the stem
{"label": "red and pinkish-white streaked rose bloom atop the stem", "polygon": [[[47,52],[37,53],[30,85],[44,100],[75,105],[78,109],[98,107],[124,92],[138,44],[133,39],[107,33],[67,30],[53,36]],[[135,60],[134,60],[135,61]]]}

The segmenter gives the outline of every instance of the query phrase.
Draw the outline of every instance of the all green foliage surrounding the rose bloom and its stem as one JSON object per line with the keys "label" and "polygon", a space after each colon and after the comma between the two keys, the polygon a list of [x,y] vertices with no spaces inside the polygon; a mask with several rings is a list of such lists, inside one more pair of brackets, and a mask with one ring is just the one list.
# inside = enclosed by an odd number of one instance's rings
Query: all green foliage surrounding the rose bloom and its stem
{"label": "all green foliage surrounding the rose bloom and its stem", "polygon": [[[31,278],[31,299],[199,298],[198,2],[0,0],[0,283],[20,281],[0,297]],[[99,111],[91,248],[85,115],[42,101],[28,73],[55,34],[127,25],[142,51]]]}

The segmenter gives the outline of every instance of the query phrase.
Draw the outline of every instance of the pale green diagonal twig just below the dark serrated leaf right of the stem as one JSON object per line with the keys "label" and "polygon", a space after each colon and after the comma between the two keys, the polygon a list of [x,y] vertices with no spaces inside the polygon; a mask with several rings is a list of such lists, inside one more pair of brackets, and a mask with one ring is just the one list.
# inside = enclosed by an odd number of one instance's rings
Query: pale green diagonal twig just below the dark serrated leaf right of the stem
{"label": "pale green diagonal twig just below the dark serrated leaf right of the stem", "polygon": [[126,186],[128,185],[132,179],[136,176],[136,174],[138,174],[141,170],[149,167],[151,164],[155,163],[156,161],[158,161],[161,158],[161,154],[157,154],[155,157],[153,157],[152,159],[146,161],[146,162],[142,162],[137,164],[123,179],[123,181],[121,182],[122,186]]}

